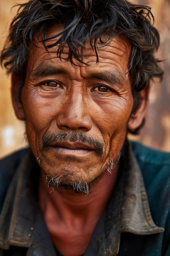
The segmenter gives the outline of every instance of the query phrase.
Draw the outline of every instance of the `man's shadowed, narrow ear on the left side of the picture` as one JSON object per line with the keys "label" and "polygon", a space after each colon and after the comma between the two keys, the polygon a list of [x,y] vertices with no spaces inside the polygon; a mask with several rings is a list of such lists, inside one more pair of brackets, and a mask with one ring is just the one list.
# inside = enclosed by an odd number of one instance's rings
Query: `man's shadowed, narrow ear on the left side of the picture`
{"label": "man's shadowed, narrow ear on the left side of the picture", "polygon": [[11,80],[11,97],[15,115],[20,120],[25,120],[24,109],[20,97],[22,78],[18,74],[12,74]]}

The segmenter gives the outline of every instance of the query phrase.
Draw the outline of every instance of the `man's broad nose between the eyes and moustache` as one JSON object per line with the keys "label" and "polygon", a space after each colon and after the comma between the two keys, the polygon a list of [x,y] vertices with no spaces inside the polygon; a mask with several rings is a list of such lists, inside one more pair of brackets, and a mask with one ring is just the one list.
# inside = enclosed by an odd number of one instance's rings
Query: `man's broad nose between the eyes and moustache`
{"label": "man's broad nose between the eyes and moustache", "polygon": [[91,130],[88,99],[83,92],[68,92],[57,115],[57,127],[62,130]]}

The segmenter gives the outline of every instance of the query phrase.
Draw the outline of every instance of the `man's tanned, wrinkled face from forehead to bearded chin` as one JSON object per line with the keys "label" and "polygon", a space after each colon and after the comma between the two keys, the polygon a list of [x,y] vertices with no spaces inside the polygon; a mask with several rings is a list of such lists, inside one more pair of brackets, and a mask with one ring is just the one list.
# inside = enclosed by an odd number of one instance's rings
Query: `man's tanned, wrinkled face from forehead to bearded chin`
{"label": "man's tanned, wrinkled face from forehead to bearded chin", "polygon": [[67,46],[61,59],[56,46],[49,53],[39,46],[30,48],[22,90],[29,145],[49,177],[67,185],[91,183],[116,159],[126,137],[133,106],[130,43],[116,37],[99,46],[96,63],[87,42],[88,65],[66,61]]}

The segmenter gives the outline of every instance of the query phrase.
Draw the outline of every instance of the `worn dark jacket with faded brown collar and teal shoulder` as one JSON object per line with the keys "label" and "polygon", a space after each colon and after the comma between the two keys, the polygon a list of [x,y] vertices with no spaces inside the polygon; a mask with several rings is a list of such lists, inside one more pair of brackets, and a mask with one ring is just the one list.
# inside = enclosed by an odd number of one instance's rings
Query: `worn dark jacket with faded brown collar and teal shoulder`
{"label": "worn dark jacket with faded brown collar and teal shoulder", "polygon": [[[57,255],[38,207],[39,167],[30,155],[22,150],[0,161],[3,256]],[[169,212],[170,154],[132,143],[84,256],[170,256]]]}

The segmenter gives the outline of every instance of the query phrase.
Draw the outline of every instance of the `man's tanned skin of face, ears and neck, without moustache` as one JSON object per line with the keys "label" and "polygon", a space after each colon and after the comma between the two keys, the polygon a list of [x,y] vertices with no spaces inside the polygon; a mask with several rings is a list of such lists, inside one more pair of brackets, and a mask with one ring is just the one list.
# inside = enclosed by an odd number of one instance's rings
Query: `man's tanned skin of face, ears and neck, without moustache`
{"label": "man's tanned skin of face, ears and neck, without moustache", "polygon": [[[49,35],[60,29],[53,27]],[[26,80],[22,89],[22,103],[13,93],[16,116],[25,120],[29,145],[42,170],[39,182],[39,204],[51,239],[64,256],[80,256],[88,247],[95,225],[110,198],[119,170],[117,155],[126,138],[127,127],[137,128],[147,110],[148,94],[141,91],[138,110],[131,115],[132,85],[128,74],[131,45],[115,37],[106,47],[95,51],[86,42],[84,61],[66,61],[68,47],[61,59],[57,47],[46,52],[30,46]],[[50,40],[49,43],[52,43]],[[48,44],[48,42],[47,42]],[[48,72],[41,72],[45,66]],[[53,70],[53,72],[50,72]],[[51,73],[51,74],[50,74]],[[40,75],[39,75],[40,74]],[[12,90],[18,90],[18,77],[13,75]],[[65,141],[41,147],[44,136],[60,132],[81,132],[94,137],[103,145],[98,155],[93,145]],[[48,137],[48,136],[47,136]],[[107,171],[110,159],[115,168]],[[63,184],[93,183],[88,194],[77,194],[73,189],[48,188],[46,175],[58,176]]]}

